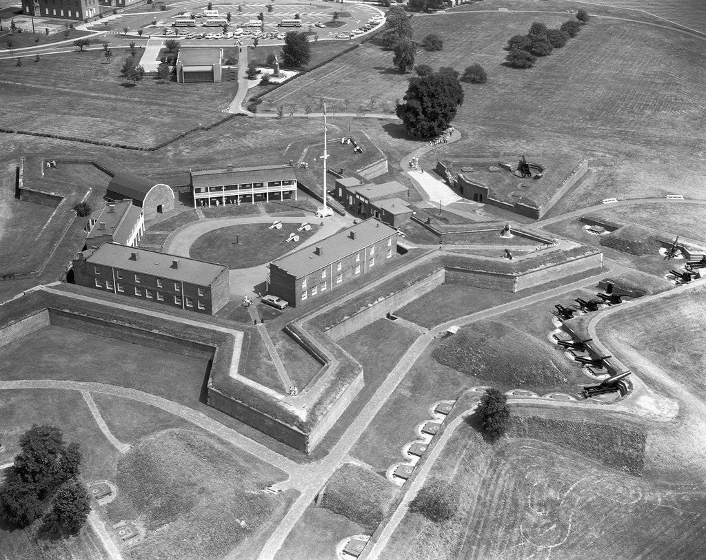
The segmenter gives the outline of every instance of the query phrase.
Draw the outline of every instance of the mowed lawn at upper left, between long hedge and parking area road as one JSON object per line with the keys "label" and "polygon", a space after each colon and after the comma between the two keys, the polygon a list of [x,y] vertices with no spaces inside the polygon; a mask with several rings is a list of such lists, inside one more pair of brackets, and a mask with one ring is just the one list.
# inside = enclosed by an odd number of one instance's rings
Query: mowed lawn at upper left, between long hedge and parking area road
{"label": "mowed lawn at upper left, between long hedge and parking area road", "polygon": [[[234,82],[162,83],[145,76],[127,87],[120,68],[128,51],[102,49],[0,61],[0,120],[4,128],[119,144],[151,146],[183,130],[224,118]],[[138,49],[138,56],[142,50]]]}

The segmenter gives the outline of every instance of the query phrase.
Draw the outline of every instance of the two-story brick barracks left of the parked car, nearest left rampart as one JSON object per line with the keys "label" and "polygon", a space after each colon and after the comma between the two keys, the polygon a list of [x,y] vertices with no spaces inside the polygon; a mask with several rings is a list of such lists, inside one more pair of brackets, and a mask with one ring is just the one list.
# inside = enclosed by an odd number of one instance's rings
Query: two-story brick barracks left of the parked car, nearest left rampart
{"label": "two-story brick barracks left of the parked car, nearest left rampart", "polygon": [[209,315],[230,299],[228,267],[119,243],[80,252],[73,279],[80,286]]}

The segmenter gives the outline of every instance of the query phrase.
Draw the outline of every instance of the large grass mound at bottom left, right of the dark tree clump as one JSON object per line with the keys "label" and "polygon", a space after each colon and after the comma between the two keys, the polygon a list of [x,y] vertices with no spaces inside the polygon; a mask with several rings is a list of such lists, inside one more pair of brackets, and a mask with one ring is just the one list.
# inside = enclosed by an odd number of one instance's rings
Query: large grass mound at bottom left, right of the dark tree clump
{"label": "large grass mound at bottom left, right of the dark tree clump", "polygon": [[[145,540],[133,559],[220,558],[256,537],[287,502],[258,492],[283,473],[258,458],[186,430],[143,439],[118,463],[115,523],[137,519]],[[244,521],[244,524],[241,524]]]}

